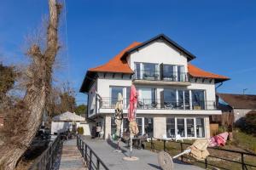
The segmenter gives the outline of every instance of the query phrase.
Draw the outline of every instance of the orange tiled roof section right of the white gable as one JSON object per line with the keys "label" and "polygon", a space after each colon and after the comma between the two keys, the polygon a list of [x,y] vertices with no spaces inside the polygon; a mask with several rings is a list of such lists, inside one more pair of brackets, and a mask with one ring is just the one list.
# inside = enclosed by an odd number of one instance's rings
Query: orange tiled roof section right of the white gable
{"label": "orange tiled roof section right of the white gable", "polygon": [[229,80],[229,77],[224,77],[221,75],[213,74],[212,72],[203,71],[195,65],[188,64],[189,75],[192,77],[205,77],[205,78],[215,78],[215,79],[224,79]]}

